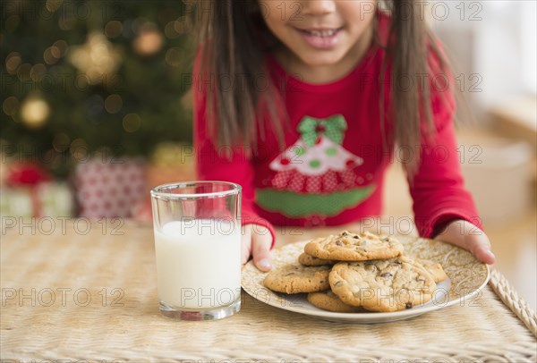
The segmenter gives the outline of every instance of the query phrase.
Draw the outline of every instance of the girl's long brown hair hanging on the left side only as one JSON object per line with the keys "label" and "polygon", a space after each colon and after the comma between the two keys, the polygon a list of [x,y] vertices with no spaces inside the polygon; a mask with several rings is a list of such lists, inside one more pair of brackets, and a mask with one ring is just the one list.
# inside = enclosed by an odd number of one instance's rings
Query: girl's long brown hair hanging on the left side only
{"label": "girl's long brown hair hanging on the left side only", "polygon": [[209,137],[218,146],[242,145],[255,153],[265,128],[283,143],[282,107],[274,87],[261,89],[256,78],[270,80],[259,34],[266,27],[257,0],[200,0],[198,44],[200,75],[211,79],[206,90]]}

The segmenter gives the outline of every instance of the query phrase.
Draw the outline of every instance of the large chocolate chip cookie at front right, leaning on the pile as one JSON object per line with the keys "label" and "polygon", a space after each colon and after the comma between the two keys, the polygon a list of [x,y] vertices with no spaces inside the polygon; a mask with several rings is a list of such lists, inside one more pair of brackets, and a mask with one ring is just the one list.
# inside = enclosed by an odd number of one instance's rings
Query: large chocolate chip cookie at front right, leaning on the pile
{"label": "large chocolate chip cookie at front right, leaning on the pile", "polygon": [[332,267],[330,288],[345,304],[370,311],[398,311],[432,299],[430,274],[413,259],[340,262]]}

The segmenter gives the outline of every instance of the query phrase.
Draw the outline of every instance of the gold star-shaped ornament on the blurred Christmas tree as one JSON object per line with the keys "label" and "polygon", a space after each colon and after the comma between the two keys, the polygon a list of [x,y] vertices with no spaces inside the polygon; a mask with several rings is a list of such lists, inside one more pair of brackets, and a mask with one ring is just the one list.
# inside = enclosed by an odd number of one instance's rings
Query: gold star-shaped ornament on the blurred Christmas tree
{"label": "gold star-shaped ornament on the blurred Christmas tree", "polygon": [[93,32],[84,45],[71,47],[69,61],[87,76],[90,84],[98,84],[117,70],[121,55],[103,34]]}

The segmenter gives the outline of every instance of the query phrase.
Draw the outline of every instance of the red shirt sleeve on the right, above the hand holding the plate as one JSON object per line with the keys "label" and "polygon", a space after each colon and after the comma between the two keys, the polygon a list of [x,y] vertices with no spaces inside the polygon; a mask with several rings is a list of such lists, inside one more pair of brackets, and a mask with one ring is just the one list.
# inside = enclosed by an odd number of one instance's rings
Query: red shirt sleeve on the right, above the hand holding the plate
{"label": "red shirt sleeve on the right, above the hand holding the plate", "polygon": [[418,232],[432,238],[455,219],[466,220],[482,229],[473,197],[465,189],[461,173],[453,125],[453,94],[449,89],[439,91],[432,87],[431,95],[436,132],[429,138],[422,138],[421,162],[413,180],[408,181]]}

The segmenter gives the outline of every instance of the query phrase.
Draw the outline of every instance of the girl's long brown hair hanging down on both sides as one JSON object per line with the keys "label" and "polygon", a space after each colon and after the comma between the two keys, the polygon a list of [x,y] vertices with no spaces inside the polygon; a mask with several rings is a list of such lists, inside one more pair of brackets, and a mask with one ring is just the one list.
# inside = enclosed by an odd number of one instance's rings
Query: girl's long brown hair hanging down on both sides
{"label": "girl's long brown hair hanging down on both sides", "polygon": [[[386,130],[387,120],[394,123],[393,139],[396,144],[413,150],[420,145],[422,137],[433,131],[430,105],[430,87],[420,77],[430,73],[428,55],[438,59],[439,69],[445,72],[447,61],[437,47],[436,39],[428,29],[425,19],[418,11],[415,0],[379,0],[379,4],[390,13],[388,40],[383,45],[386,56],[380,76],[380,115]],[[197,12],[197,34],[200,45],[200,72],[226,75],[230,80],[241,80],[241,87],[223,89],[211,87],[207,92],[207,117],[210,137],[219,145],[242,143],[255,145],[257,135],[264,134],[267,124],[263,114],[282,120],[285,115],[277,114],[281,107],[268,107],[282,102],[277,88],[259,89],[254,77],[268,74],[265,55],[275,38],[262,20],[257,0],[199,0]],[[378,21],[375,21],[378,25]],[[378,32],[377,32],[378,36]],[[379,43],[379,37],[375,37]],[[388,82],[391,103],[384,107],[384,82],[387,67],[391,80]],[[397,81],[410,77],[414,85],[402,89]],[[426,135],[422,133],[425,119]],[[271,122],[270,127],[283,142],[285,123]],[[385,142],[387,145],[387,143]],[[405,169],[412,176],[419,164],[419,155],[404,157]]]}

